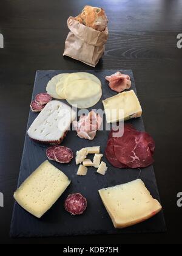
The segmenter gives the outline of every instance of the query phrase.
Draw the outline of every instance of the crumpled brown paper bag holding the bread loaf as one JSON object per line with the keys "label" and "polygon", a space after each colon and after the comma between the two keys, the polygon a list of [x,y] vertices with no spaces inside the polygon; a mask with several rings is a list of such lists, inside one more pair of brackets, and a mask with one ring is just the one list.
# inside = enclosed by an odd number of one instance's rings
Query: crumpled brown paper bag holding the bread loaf
{"label": "crumpled brown paper bag holding the bread loaf", "polygon": [[108,38],[107,27],[103,32],[99,32],[75,21],[73,17],[67,20],[67,25],[70,32],[66,38],[63,55],[95,67],[104,54]]}

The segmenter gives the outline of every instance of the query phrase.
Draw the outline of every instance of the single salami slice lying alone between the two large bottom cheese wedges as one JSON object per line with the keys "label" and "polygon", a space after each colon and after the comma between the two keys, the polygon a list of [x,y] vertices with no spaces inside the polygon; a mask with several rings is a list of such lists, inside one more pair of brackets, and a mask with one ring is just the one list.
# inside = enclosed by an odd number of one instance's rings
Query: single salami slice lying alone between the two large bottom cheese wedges
{"label": "single salami slice lying alone between the two large bottom cheese wedges", "polygon": [[70,194],[64,202],[64,208],[72,215],[81,215],[87,208],[87,199],[82,194]]}

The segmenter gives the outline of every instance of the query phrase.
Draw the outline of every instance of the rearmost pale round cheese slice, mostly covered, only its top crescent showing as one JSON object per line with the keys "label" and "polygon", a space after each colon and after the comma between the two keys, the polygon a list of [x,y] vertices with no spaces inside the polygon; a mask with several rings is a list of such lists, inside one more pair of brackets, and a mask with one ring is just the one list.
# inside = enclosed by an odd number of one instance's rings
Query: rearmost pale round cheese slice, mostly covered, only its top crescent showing
{"label": "rearmost pale round cheese slice, mostly covered, only its top crescent showing", "polygon": [[100,87],[102,86],[101,81],[98,79],[98,77],[86,72],[76,72],[69,74],[69,76],[67,76],[66,80],[64,81],[64,86],[66,87],[66,85],[70,84],[73,80],[76,79],[92,80],[96,84],[99,84]]}

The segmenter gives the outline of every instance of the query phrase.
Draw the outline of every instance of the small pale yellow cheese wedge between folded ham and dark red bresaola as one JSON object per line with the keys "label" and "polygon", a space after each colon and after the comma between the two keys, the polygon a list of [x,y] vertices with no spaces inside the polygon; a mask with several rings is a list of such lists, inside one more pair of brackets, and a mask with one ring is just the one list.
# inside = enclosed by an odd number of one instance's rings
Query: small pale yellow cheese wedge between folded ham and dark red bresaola
{"label": "small pale yellow cheese wedge between folded ham and dark red bresaola", "polygon": [[107,123],[138,118],[142,114],[140,102],[133,90],[124,91],[116,96],[105,99],[103,105]]}

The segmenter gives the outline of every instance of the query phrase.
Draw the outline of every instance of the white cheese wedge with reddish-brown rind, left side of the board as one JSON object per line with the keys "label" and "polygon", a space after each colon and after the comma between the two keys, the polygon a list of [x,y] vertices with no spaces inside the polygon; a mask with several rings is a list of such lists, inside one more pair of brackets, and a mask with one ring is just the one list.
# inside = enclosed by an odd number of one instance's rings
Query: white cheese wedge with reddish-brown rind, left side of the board
{"label": "white cheese wedge with reddish-brown rind, left side of the board", "polygon": [[68,105],[50,101],[33,121],[28,135],[35,141],[59,144],[75,117],[76,113]]}

